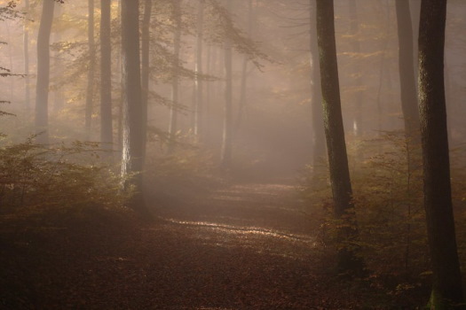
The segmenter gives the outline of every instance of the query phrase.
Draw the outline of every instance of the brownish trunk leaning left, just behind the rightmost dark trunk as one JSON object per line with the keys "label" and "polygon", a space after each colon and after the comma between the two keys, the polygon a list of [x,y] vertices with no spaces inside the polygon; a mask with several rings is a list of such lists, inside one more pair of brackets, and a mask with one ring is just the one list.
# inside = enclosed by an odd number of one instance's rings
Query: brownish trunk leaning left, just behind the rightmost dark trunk
{"label": "brownish trunk leaning left, just behind the rightmost dark trunk", "polygon": [[419,145],[419,111],[415,85],[415,64],[413,60],[413,28],[409,3],[406,0],[395,1],[399,39],[399,85],[401,89],[401,108],[405,121],[407,138],[408,174],[420,167]]}

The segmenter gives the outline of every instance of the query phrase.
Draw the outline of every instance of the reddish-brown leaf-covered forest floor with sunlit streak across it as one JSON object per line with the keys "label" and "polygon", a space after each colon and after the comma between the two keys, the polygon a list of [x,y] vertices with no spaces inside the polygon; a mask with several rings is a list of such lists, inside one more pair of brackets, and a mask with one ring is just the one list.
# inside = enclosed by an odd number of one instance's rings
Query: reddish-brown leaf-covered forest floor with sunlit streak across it
{"label": "reddish-brown leaf-covered forest floor with sunlit streak across it", "polygon": [[333,275],[293,182],[168,200],[154,222],[92,209],[0,217],[0,308],[400,308]]}

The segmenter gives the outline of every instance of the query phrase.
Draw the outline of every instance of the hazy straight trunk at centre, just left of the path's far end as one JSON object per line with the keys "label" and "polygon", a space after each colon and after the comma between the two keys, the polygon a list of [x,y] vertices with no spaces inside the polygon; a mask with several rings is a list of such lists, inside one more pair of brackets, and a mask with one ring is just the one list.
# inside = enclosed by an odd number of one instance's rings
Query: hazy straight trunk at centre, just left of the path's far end
{"label": "hazy straight trunk at centre, just left of the path's far end", "polygon": [[[233,0],[226,0],[227,12],[232,12]],[[232,160],[232,131],[233,131],[233,51],[231,39],[225,38],[225,109],[224,130],[222,139],[222,155],[220,166],[229,168]]]}

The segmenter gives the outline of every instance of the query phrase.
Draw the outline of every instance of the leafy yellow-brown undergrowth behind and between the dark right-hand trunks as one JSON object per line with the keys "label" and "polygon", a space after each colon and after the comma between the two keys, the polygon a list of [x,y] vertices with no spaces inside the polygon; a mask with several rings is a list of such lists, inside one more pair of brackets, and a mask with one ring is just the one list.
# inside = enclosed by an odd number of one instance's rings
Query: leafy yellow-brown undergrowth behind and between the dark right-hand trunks
{"label": "leafy yellow-brown undergrowth behind and between the dark right-hand trunks", "polygon": [[[423,209],[422,168],[407,169],[407,147],[401,132],[387,132],[351,149],[351,183],[357,214],[358,247],[366,263],[370,287],[390,300],[408,300],[427,293],[430,261]],[[464,149],[451,151],[456,231],[462,267],[466,267],[466,167]],[[324,163],[325,164],[325,163]],[[355,167],[357,166],[357,167]],[[317,173],[315,173],[317,170]],[[328,169],[307,167],[301,193],[305,212],[320,218],[320,249],[335,251],[340,223],[333,216]],[[347,244],[345,244],[346,246]]]}

